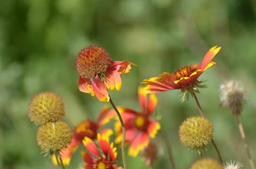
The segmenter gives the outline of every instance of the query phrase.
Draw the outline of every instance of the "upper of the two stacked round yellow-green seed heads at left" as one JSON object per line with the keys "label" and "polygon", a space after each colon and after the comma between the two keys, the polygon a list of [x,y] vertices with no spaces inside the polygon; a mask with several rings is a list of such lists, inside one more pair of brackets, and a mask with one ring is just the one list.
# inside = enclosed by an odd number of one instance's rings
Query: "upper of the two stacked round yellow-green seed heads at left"
{"label": "upper of the two stacked round yellow-green seed heads at left", "polygon": [[53,92],[41,92],[28,105],[28,116],[35,125],[61,120],[65,115],[62,99]]}

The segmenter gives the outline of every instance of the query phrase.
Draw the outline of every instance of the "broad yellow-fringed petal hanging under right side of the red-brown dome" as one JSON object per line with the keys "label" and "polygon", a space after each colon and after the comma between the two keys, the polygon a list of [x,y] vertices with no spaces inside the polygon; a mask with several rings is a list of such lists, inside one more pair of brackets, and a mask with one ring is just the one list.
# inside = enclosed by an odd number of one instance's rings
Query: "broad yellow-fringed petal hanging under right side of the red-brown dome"
{"label": "broad yellow-fringed petal hanging under right side of the red-brown dome", "polygon": [[111,91],[114,91],[115,87],[116,91],[119,91],[121,89],[121,77],[115,67],[107,68],[105,74],[105,85],[107,86],[107,89],[110,88]]}

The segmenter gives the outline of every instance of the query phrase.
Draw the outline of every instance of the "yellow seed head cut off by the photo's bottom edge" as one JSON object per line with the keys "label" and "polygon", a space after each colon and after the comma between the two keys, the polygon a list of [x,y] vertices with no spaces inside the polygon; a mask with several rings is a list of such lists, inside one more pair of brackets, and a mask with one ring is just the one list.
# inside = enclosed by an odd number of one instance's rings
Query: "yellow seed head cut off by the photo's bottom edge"
{"label": "yellow seed head cut off by the photo's bottom edge", "polygon": [[194,162],[190,169],[223,169],[222,165],[219,164],[216,160],[207,158],[201,159]]}

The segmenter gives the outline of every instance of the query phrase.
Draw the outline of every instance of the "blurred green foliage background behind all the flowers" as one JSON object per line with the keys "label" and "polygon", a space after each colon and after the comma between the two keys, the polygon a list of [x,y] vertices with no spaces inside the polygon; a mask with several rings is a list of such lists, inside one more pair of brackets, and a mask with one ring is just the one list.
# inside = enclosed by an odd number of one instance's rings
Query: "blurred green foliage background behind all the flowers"
{"label": "blurred green foliage background behind all the flowers", "polygon": [[[138,65],[122,75],[120,92],[110,92],[116,105],[138,111],[137,87],[143,79],[200,63],[210,47],[222,46],[217,64],[199,77],[208,79],[208,87],[200,90],[198,100],[214,125],[223,160],[241,161],[248,169],[236,119],[229,108],[219,107],[220,84],[231,78],[244,84],[248,103],[241,121],[256,162],[255,0],[1,0],[0,169],[57,169],[40,154],[37,127],[27,116],[35,94],[58,93],[72,128],[97,118],[105,103],[78,90],[75,69],[76,55],[90,45],[104,47],[113,61]],[[181,103],[179,92],[158,93],[156,112],[178,168],[188,169],[199,156],[182,146],[178,128],[199,111],[192,99]],[[218,160],[211,143],[208,148],[204,157]],[[127,161],[130,169],[146,169],[139,157]],[[77,151],[66,169],[81,164]],[[172,168],[167,152],[154,168]]]}

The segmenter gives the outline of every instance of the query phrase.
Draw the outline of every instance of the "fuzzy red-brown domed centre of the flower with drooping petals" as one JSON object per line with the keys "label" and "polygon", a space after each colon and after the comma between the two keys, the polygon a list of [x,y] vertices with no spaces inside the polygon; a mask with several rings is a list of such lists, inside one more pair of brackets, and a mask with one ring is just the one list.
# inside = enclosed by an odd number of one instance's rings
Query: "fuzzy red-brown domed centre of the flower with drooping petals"
{"label": "fuzzy red-brown domed centre of the flower with drooping petals", "polygon": [[111,58],[105,49],[99,46],[83,48],[76,57],[76,70],[83,78],[95,77],[106,72]]}

